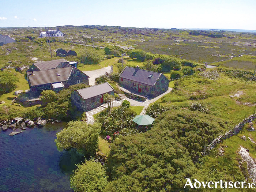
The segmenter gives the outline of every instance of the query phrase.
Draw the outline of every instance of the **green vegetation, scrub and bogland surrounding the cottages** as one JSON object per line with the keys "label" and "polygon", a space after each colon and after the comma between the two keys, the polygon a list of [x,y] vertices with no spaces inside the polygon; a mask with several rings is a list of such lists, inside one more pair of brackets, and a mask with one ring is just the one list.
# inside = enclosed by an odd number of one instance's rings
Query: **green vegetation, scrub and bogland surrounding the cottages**
{"label": "green vegetation, scrub and bogland surrounding the cottages", "polygon": [[[85,116],[75,113],[76,110],[70,105],[70,94],[72,90],[78,89],[75,86],[57,94],[45,92],[42,105],[18,106],[12,102],[12,94],[15,90],[28,89],[28,85],[22,73],[6,69],[16,74],[19,82],[14,82],[15,87],[12,87],[10,93],[2,92],[0,100],[5,101],[0,106],[2,120],[11,121],[20,116],[30,119],[78,120],[71,121],[56,140],[59,150],[76,148],[79,153],[87,155],[87,160],[92,156],[91,160],[78,166],[72,176],[71,187],[75,191],[93,190],[95,186],[99,191],[127,191],[127,188],[130,191],[187,191],[184,189],[185,178],[199,181],[255,180],[251,174],[254,165],[241,155],[243,147],[248,150],[249,157],[256,158],[256,133],[249,131],[251,125],[247,122],[237,135],[222,140],[208,155],[204,155],[204,146],[230,129],[234,130],[244,118],[255,113],[256,82],[254,71],[250,70],[255,67],[253,33],[218,31],[221,35],[212,36],[211,32],[189,34],[187,30],[106,26],[58,28],[64,31],[65,39],[52,39],[52,49],[75,50],[78,56],[67,59],[77,61],[83,71],[114,65],[114,72],[120,72],[121,64],[117,62],[121,53],[126,52],[128,56],[125,56],[125,66],[139,65],[147,70],[163,72],[172,80],[169,87],[173,88],[171,93],[148,107],[146,113],[155,118],[155,123],[150,130],[138,133],[128,118],[134,116],[135,112],[121,107],[113,108],[112,112],[106,110],[99,113],[95,117],[95,125],[86,125],[83,121]],[[2,30],[16,35],[18,40],[27,35],[33,36],[31,32],[40,29]],[[91,36],[94,37],[95,45],[105,49],[95,48],[93,51],[93,48],[84,46],[92,45]],[[121,47],[114,46],[115,43]],[[31,65],[33,57],[38,60],[51,59],[44,38],[26,39],[1,48],[2,67]],[[224,65],[225,62],[236,61],[239,63],[236,67],[240,69],[221,66],[204,68],[204,62],[211,63],[231,56],[233,59],[215,64]],[[53,59],[57,58],[53,56]],[[251,67],[246,67],[247,64]],[[114,75],[103,76],[101,80],[114,80]],[[115,85],[115,82],[111,83]],[[118,119],[115,113],[118,113]],[[126,122],[126,127],[123,122]],[[253,123],[255,128],[255,121]],[[88,133],[91,133],[91,138]],[[107,139],[110,143],[104,140],[106,134],[111,138]],[[70,142],[65,143],[64,140]],[[88,171],[95,173],[99,180],[91,180]],[[82,182],[86,183],[87,188],[79,187]]]}

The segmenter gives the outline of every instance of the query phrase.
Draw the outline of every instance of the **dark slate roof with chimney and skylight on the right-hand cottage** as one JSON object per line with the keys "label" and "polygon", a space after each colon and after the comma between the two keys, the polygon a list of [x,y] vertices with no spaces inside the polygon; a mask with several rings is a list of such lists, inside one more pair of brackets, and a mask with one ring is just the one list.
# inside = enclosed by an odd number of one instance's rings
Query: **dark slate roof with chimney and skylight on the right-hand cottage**
{"label": "dark slate roof with chimney and skylight on the right-hand cottage", "polygon": [[[151,78],[149,78],[150,75],[152,75]],[[125,67],[120,75],[120,78],[129,79],[138,83],[154,86],[160,76],[161,73],[146,71],[143,69],[138,69],[138,71],[135,72],[135,68]]]}

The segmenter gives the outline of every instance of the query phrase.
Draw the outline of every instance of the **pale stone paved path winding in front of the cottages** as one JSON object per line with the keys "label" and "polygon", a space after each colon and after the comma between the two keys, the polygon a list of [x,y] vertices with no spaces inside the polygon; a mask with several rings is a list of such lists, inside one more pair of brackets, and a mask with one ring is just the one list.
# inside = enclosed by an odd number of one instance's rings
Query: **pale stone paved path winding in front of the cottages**
{"label": "pale stone paved path winding in front of the cottages", "polygon": [[[124,88],[121,87],[121,89],[124,89]],[[163,95],[166,95],[167,93],[170,93],[171,91],[172,91],[172,88],[169,87],[168,91],[166,91],[165,93],[163,93],[163,94],[161,94],[158,97],[155,97],[153,99],[146,99],[146,101],[144,101],[144,102],[135,101],[133,99],[130,99],[130,98],[127,98],[127,97],[124,96],[124,98],[121,99],[120,101],[113,101],[113,107],[120,106],[124,100],[127,100],[131,103],[131,106],[144,106],[142,112],[140,113],[142,115],[142,114],[145,114],[145,111],[146,111],[148,105],[150,105],[150,103],[153,103],[153,102],[157,101],[157,99],[163,97]],[[102,106],[108,108],[107,103],[103,104]],[[96,109],[93,109],[93,110],[90,110],[90,111],[86,112],[86,122],[89,123],[89,124],[93,124],[94,123],[93,115],[103,111],[104,109],[105,108],[99,106]]]}

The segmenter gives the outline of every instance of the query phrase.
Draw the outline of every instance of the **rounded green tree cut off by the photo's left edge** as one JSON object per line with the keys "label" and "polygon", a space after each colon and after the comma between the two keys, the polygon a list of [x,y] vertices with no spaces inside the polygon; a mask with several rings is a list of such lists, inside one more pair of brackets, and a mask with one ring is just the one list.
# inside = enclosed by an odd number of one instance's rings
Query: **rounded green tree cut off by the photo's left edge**
{"label": "rounded green tree cut off by the photo's left edge", "polygon": [[0,93],[10,93],[16,88],[15,83],[19,82],[16,74],[9,71],[0,72]]}

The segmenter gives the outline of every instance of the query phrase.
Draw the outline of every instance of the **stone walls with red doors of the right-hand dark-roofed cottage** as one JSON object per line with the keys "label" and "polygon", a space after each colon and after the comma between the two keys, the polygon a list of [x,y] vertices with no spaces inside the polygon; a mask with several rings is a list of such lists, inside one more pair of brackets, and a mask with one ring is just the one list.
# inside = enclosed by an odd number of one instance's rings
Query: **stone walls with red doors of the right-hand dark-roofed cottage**
{"label": "stone walls with red doors of the right-hand dark-roofed cottage", "polygon": [[[162,74],[157,80],[157,83],[154,86],[150,86],[147,84],[138,83],[133,80],[119,77],[119,84],[123,87],[127,87],[128,89],[133,89],[138,94],[141,94],[143,96],[157,97],[158,95],[161,95],[168,90],[169,80]],[[139,92],[139,85],[141,88],[141,92]]]}

